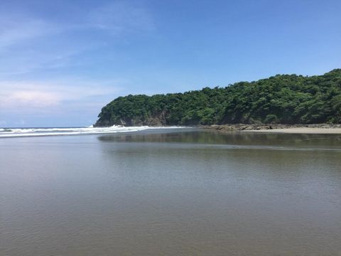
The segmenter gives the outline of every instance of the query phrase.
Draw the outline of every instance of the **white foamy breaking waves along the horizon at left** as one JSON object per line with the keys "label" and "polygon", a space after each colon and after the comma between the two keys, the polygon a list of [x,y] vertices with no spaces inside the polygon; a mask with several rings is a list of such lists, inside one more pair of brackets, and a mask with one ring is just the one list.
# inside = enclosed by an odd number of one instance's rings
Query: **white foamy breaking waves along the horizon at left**
{"label": "white foamy breaking waves along the horizon at left", "polygon": [[81,134],[110,134],[118,132],[138,132],[146,129],[175,129],[184,127],[75,127],[75,128],[1,128],[1,137],[38,137],[59,135],[81,135]]}

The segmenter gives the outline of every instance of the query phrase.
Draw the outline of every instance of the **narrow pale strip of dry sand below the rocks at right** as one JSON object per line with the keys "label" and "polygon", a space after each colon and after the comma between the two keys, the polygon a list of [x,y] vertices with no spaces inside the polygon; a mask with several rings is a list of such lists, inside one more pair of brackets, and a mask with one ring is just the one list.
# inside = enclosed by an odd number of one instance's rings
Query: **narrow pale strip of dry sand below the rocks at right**
{"label": "narrow pale strip of dry sand below the rocks at right", "polygon": [[293,127],[285,129],[251,129],[244,132],[288,133],[288,134],[341,134],[341,128]]}

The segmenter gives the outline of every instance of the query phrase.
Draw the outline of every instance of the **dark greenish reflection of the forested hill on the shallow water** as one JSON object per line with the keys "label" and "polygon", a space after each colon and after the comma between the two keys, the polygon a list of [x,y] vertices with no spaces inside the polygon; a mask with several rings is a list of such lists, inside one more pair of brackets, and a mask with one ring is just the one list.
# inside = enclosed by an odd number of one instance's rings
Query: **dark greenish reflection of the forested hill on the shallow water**
{"label": "dark greenish reflection of the forested hill on the shallow water", "polygon": [[190,144],[223,144],[225,146],[278,146],[320,149],[341,149],[341,135],[337,134],[275,134],[257,132],[162,132],[99,136],[102,142],[178,142]]}

